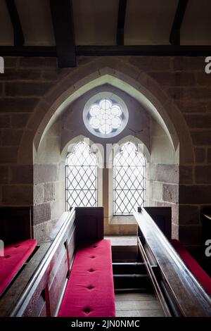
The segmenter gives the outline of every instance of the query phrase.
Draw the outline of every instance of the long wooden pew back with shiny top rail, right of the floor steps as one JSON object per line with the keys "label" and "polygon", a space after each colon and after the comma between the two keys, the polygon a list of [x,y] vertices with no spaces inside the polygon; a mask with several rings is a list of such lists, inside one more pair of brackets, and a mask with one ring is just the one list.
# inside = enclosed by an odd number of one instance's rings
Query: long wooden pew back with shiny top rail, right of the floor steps
{"label": "long wooden pew back with shiny top rail, right of the floor steps", "polygon": [[[139,232],[141,232],[141,238],[138,240],[139,249],[143,250],[147,246],[151,251],[153,259],[158,264],[160,274],[158,284],[160,289],[165,286],[170,293],[177,311],[176,315],[211,316],[210,296],[188,270],[151,216],[144,208],[141,208],[140,212],[134,213],[134,217],[138,223]],[[148,263],[147,256],[143,256],[143,260]],[[155,274],[153,277],[157,281]]]}

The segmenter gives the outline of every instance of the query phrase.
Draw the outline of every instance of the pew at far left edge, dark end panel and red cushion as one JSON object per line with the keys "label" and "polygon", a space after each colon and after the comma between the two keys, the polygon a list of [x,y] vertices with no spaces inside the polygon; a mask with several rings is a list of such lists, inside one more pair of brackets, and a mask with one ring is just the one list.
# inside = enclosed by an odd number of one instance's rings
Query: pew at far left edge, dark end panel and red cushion
{"label": "pew at far left edge, dark end panel and red cushion", "polygon": [[0,208],[0,297],[37,250],[32,239],[32,207]]}

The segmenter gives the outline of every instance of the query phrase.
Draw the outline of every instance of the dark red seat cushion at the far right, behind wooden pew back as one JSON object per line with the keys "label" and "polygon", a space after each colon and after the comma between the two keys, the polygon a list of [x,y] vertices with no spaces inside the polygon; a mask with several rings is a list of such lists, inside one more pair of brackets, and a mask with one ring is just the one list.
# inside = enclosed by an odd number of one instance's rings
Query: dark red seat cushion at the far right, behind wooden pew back
{"label": "dark red seat cushion at the far right, behind wooden pew back", "polygon": [[181,259],[186,263],[186,266],[188,269],[193,273],[193,275],[196,277],[200,285],[203,286],[205,291],[208,294],[211,294],[211,278],[207,273],[205,273],[205,270],[199,266],[199,264],[192,258],[191,254],[186,251],[184,246],[179,242],[177,239],[172,239],[172,246],[177,251]]}

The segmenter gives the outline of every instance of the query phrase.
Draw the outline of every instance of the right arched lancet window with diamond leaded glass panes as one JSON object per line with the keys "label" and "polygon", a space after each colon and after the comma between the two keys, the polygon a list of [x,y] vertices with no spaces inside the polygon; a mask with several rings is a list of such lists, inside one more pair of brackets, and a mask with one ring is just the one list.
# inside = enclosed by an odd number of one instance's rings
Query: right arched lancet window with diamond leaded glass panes
{"label": "right arched lancet window with diamond leaded glass panes", "polygon": [[144,206],[145,169],[145,158],[136,145],[124,144],[113,163],[114,215],[132,215],[138,206]]}

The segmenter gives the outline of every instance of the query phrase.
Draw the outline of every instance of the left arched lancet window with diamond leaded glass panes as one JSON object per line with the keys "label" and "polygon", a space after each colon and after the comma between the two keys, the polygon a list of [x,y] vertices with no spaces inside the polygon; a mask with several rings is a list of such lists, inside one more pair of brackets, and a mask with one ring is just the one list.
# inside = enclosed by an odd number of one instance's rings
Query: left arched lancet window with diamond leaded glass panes
{"label": "left arched lancet window with diamond leaded glass panes", "polygon": [[66,159],[66,211],[72,206],[97,206],[96,155],[91,153],[89,145],[78,142]]}

